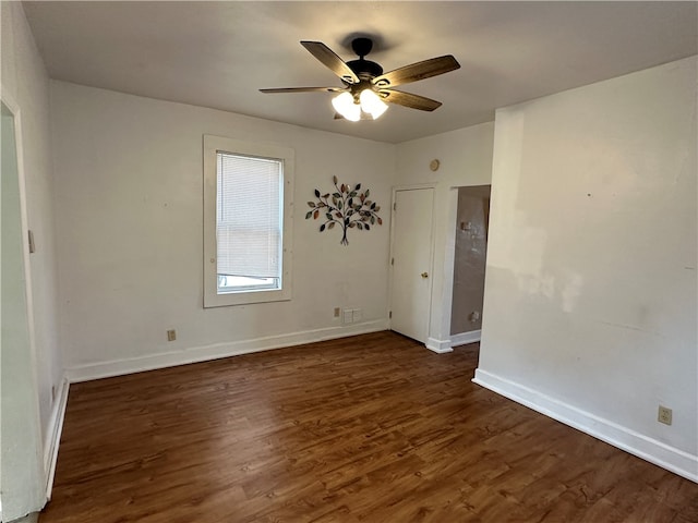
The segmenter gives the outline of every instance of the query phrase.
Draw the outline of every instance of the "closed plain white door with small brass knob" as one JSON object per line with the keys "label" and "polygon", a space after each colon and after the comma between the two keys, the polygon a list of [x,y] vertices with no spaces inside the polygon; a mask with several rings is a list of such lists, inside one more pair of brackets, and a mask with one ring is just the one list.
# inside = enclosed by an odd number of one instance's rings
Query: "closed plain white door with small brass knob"
{"label": "closed plain white door with small brass knob", "polygon": [[426,342],[432,295],[433,188],[395,192],[390,329]]}

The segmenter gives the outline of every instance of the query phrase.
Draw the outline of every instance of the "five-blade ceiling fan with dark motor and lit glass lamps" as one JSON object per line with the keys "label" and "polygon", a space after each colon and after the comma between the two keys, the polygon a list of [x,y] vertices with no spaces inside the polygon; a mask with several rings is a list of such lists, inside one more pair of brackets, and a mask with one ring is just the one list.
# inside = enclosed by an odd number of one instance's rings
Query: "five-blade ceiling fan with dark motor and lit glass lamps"
{"label": "five-blade ceiling fan with dark motor and lit glass lamps", "polygon": [[281,87],[260,90],[262,93],[339,93],[332,100],[337,110],[335,118],[346,118],[354,122],[377,119],[387,109],[386,101],[421,111],[437,109],[442,105],[441,101],[395,90],[394,87],[460,68],[452,54],[446,54],[384,73],[381,65],[365,60],[364,57],[373,48],[373,40],[365,37],[354,38],[351,41],[351,49],[359,56],[359,59],[348,62],[345,62],[322,41],[301,41],[301,46],[339,76],[345,84],[344,87]]}

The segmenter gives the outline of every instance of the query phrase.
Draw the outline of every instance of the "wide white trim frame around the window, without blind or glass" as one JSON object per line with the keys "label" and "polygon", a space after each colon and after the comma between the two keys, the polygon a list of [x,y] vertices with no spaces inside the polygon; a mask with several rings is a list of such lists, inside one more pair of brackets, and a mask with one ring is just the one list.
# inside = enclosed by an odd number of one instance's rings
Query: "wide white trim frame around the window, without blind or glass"
{"label": "wide white trim frame around the window, without blind or glass", "polygon": [[[218,294],[218,264],[216,245],[216,187],[218,153],[274,158],[282,161],[284,228],[281,288]],[[204,307],[221,307],[250,303],[288,301],[291,299],[292,220],[293,220],[293,149],[274,144],[245,142],[222,136],[204,135]]]}

